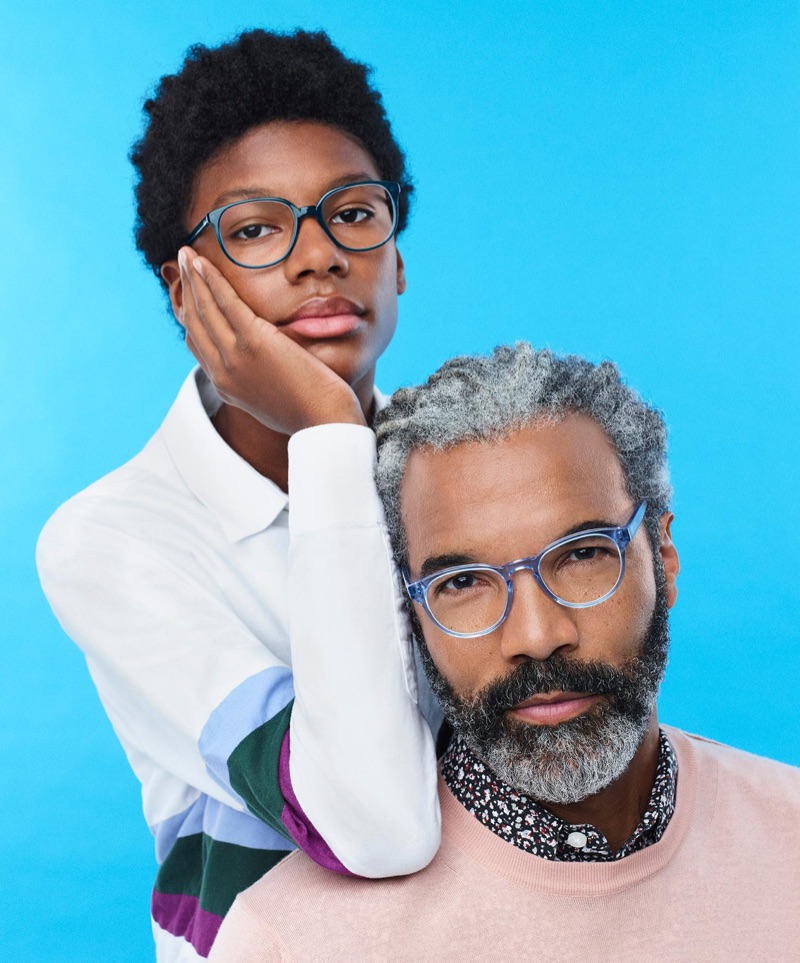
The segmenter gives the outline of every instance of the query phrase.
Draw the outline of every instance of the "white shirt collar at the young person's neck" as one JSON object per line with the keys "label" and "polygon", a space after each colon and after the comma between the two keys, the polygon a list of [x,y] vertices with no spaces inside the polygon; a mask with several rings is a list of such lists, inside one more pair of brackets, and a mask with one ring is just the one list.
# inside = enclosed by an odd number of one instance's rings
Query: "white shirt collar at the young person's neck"
{"label": "white shirt collar at the young person's neck", "polygon": [[199,367],[189,374],[161,426],[181,478],[219,520],[229,542],[264,531],[289,498],[220,438],[212,417],[222,404]]}

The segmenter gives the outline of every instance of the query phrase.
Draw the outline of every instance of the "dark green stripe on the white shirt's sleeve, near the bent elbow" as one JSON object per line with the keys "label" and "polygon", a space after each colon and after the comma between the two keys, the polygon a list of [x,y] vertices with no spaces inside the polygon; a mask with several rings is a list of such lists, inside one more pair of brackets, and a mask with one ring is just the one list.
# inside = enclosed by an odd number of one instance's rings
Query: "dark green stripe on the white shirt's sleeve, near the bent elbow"
{"label": "dark green stripe on the white shirt's sleeve, near the bent elbow", "polygon": [[278,761],[293,705],[294,699],[242,739],[228,757],[228,775],[234,791],[254,816],[286,839],[291,837],[281,822],[286,801],[278,783]]}

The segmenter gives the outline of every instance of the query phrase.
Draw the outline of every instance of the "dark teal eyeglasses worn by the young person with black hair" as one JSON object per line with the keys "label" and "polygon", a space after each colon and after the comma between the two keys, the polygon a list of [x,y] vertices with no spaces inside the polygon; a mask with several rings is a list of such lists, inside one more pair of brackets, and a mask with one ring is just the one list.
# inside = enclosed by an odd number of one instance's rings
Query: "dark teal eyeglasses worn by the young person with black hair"
{"label": "dark teal eyeglasses worn by the young person with black hair", "polygon": [[239,267],[265,268],[289,257],[300,221],[316,218],[345,251],[371,251],[394,236],[400,185],[359,181],[335,187],[316,204],[297,207],[283,197],[254,197],[209,211],[186,238],[191,244],[209,225],[227,258]]}

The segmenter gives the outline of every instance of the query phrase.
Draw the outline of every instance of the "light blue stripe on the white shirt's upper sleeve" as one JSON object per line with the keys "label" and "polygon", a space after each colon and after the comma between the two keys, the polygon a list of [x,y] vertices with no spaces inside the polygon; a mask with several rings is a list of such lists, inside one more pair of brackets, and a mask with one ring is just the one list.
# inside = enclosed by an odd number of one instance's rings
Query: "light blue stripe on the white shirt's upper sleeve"
{"label": "light blue stripe on the white shirt's upper sleeve", "polygon": [[[292,671],[273,666],[251,675],[211,713],[198,746],[211,778],[240,799],[228,781],[228,758],[239,743],[284,709],[294,698]],[[241,800],[242,805],[244,801]]]}

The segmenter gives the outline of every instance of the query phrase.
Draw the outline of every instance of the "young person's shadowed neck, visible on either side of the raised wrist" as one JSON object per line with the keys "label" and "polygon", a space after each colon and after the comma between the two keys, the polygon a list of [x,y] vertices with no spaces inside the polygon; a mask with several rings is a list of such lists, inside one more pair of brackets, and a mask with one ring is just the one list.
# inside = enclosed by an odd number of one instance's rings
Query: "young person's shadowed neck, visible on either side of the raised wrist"
{"label": "young person's shadowed neck, visible on either side of the raised wrist", "polygon": [[[373,379],[353,390],[364,412],[367,424],[374,415]],[[274,482],[281,491],[289,491],[289,436],[273,431],[251,414],[223,402],[211,419],[220,438],[255,470]]]}

